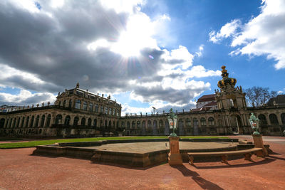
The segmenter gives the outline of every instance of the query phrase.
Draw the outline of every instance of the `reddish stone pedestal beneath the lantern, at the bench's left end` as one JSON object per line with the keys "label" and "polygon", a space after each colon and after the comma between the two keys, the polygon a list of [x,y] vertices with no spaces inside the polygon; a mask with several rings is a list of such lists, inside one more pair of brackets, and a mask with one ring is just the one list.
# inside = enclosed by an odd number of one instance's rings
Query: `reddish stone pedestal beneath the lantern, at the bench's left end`
{"label": "reddish stone pedestal beneath the lantern, at the bench's left end", "polygon": [[182,156],[179,150],[179,137],[168,137],[170,139],[170,153],[168,163],[170,165],[182,165]]}

